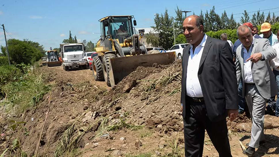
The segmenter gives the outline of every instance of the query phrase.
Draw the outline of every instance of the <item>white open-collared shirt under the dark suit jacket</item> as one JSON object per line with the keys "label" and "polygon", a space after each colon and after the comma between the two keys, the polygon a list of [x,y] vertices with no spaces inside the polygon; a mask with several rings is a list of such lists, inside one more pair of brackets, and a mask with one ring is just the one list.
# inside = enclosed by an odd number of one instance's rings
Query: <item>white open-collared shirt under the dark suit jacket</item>
{"label": "white open-collared shirt under the dark suit jacket", "polygon": [[202,51],[205,47],[207,35],[205,35],[200,44],[193,52],[193,45],[190,45],[190,56],[187,66],[186,92],[189,97],[203,97],[200,81],[198,80],[198,69],[200,66],[200,59]]}

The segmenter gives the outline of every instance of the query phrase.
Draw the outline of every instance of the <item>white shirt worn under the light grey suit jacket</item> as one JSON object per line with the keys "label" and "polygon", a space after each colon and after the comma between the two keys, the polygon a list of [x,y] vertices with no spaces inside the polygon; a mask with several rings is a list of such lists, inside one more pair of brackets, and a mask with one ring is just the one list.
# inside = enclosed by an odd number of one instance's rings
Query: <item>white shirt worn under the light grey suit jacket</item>
{"label": "white shirt worn under the light grey suit jacket", "polygon": [[252,76],[252,69],[251,69],[251,60],[246,60],[251,56],[252,49],[254,47],[254,38],[253,42],[249,48],[249,52],[247,52],[244,45],[241,45],[242,51],[243,51],[243,61],[244,61],[244,83],[254,83],[253,76]]}

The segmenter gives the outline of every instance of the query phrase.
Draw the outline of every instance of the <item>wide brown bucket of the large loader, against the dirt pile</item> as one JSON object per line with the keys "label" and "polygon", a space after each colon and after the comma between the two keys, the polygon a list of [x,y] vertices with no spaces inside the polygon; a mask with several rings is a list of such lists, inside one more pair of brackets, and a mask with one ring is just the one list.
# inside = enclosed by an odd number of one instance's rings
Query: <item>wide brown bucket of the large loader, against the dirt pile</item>
{"label": "wide brown bucket of the large loader, against the dirt pile", "polygon": [[138,66],[152,67],[154,63],[167,65],[173,63],[175,60],[175,52],[110,58],[109,77],[111,87],[135,71]]}

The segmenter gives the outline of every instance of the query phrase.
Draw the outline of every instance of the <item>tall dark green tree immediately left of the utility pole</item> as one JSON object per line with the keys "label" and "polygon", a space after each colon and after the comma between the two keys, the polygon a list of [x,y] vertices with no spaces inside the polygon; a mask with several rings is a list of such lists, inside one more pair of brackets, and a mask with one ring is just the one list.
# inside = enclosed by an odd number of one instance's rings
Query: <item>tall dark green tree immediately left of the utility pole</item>
{"label": "tall dark green tree immediately left of the utility pole", "polygon": [[168,10],[165,10],[164,15],[156,14],[154,18],[156,26],[152,28],[159,32],[159,46],[164,49],[169,49],[173,46],[173,18],[169,17]]}

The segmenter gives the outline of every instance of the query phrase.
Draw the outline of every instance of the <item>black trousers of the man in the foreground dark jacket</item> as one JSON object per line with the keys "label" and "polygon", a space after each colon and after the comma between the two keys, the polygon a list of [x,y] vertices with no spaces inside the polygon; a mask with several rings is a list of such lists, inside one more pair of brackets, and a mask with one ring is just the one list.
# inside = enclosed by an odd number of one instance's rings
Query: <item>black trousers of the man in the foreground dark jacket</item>
{"label": "black trousers of the man in the foreground dark jacket", "polygon": [[185,156],[202,157],[206,130],[219,157],[232,157],[226,119],[211,122],[204,102],[192,102],[189,109],[184,118]]}

